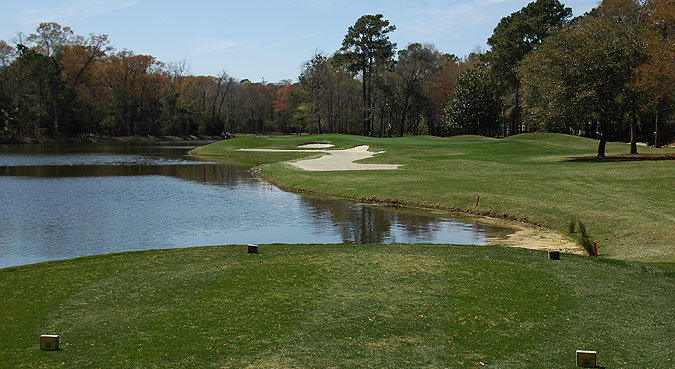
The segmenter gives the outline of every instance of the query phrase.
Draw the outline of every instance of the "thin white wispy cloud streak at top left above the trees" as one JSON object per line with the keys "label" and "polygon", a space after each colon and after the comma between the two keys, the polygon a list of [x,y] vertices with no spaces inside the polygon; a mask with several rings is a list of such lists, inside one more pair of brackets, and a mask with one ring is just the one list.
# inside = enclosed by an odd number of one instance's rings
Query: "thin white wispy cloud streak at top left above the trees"
{"label": "thin white wispy cloud streak at top left above the trees", "polygon": [[67,1],[48,8],[24,10],[22,12],[22,18],[20,22],[23,24],[35,24],[73,17],[88,17],[96,14],[114,12],[134,5],[136,5],[136,3],[133,1],[115,1],[115,0]]}

